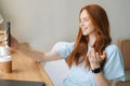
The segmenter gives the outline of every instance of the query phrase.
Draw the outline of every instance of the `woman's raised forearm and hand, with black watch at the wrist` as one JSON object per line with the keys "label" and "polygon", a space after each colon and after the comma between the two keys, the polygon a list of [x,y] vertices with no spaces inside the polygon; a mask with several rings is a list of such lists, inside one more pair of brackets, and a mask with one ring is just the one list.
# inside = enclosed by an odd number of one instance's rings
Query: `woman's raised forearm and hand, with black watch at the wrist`
{"label": "woman's raised forearm and hand, with black watch at the wrist", "polygon": [[96,86],[112,86],[112,82],[106,80],[101,71],[100,61],[102,61],[106,57],[105,52],[102,56],[99,53],[95,53],[94,48],[89,52],[89,61],[91,66],[91,70],[98,69],[93,72],[93,76],[95,78]]}

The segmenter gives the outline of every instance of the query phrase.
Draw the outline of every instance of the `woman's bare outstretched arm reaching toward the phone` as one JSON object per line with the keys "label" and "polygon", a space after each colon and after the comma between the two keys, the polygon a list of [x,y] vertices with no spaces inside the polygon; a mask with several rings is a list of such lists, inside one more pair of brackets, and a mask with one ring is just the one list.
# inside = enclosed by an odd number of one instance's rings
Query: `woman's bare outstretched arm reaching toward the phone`
{"label": "woman's bare outstretched arm reaching toward the phone", "polygon": [[32,59],[37,61],[51,61],[51,60],[58,60],[62,59],[62,57],[58,55],[57,52],[48,52],[48,53],[41,53],[38,51],[34,51],[29,44],[27,43],[18,43],[15,38],[12,37],[12,45],[11,49],[21,52],[24,55],[27,55],[28,57],[31,57]]}

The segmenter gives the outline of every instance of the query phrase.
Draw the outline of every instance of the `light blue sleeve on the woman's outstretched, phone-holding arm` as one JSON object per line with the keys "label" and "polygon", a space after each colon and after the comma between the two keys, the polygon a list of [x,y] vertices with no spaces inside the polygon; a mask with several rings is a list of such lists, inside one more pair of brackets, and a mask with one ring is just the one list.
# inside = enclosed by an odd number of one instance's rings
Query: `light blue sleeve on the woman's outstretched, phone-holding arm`
{"label": "light blue sleeve on the woman's outstretched, phone-holding arm", "polygon": [[62,58],[66,58],[74,48],[74,42],[57,42],[53,47],[52,51],[56,51]]}

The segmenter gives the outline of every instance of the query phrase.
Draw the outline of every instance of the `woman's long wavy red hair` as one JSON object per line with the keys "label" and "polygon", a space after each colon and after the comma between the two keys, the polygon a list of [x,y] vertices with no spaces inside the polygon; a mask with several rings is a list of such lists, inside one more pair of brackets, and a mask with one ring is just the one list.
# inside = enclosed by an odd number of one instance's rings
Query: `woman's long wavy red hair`
{"label": "woman's long wavy red hair", "polygon": [[[112,39],[109,35],[109,22],[108,22],[106,12],[103,8],[101,8],[98,4],[90,4],[90,5],[83,6],[80,10],[79,16],[83,10],[86,10],[87,13],[89,14],[90,20],[92,22],[95,28],[96,41],[93,44],[93,47],[95,52],[102,55],[105,47],[112,42]],[[83,35],[81,28],[79,27],[74,49],[72,54],[66,58],[66,61],[69,68],[72,67],[73,63],[75,63],[76,66],[79,66],[82,62],[86,63],[86,67],[90,68],[90,62],[87,57],[88,43],[89,43],[89,37]],[[102,68],[105,64],[106,59],[107,57],[102,60],[101,62]]]}

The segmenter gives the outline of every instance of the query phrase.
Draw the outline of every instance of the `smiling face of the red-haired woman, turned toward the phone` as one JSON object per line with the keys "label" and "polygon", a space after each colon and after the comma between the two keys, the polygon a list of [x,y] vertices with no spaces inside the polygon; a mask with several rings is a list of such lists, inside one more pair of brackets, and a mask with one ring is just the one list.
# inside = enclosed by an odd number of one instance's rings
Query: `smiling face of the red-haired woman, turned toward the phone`
{"label": "smiling face of the red-haired woman, turned toward the phone", "polygon": [[89,14],[87,13],[86,10],[82,10],[80,14],[80,24],[79,27],[81,28],[82,34],[83,35],[90,35],[94,33],[94,26],[89,18]]}

